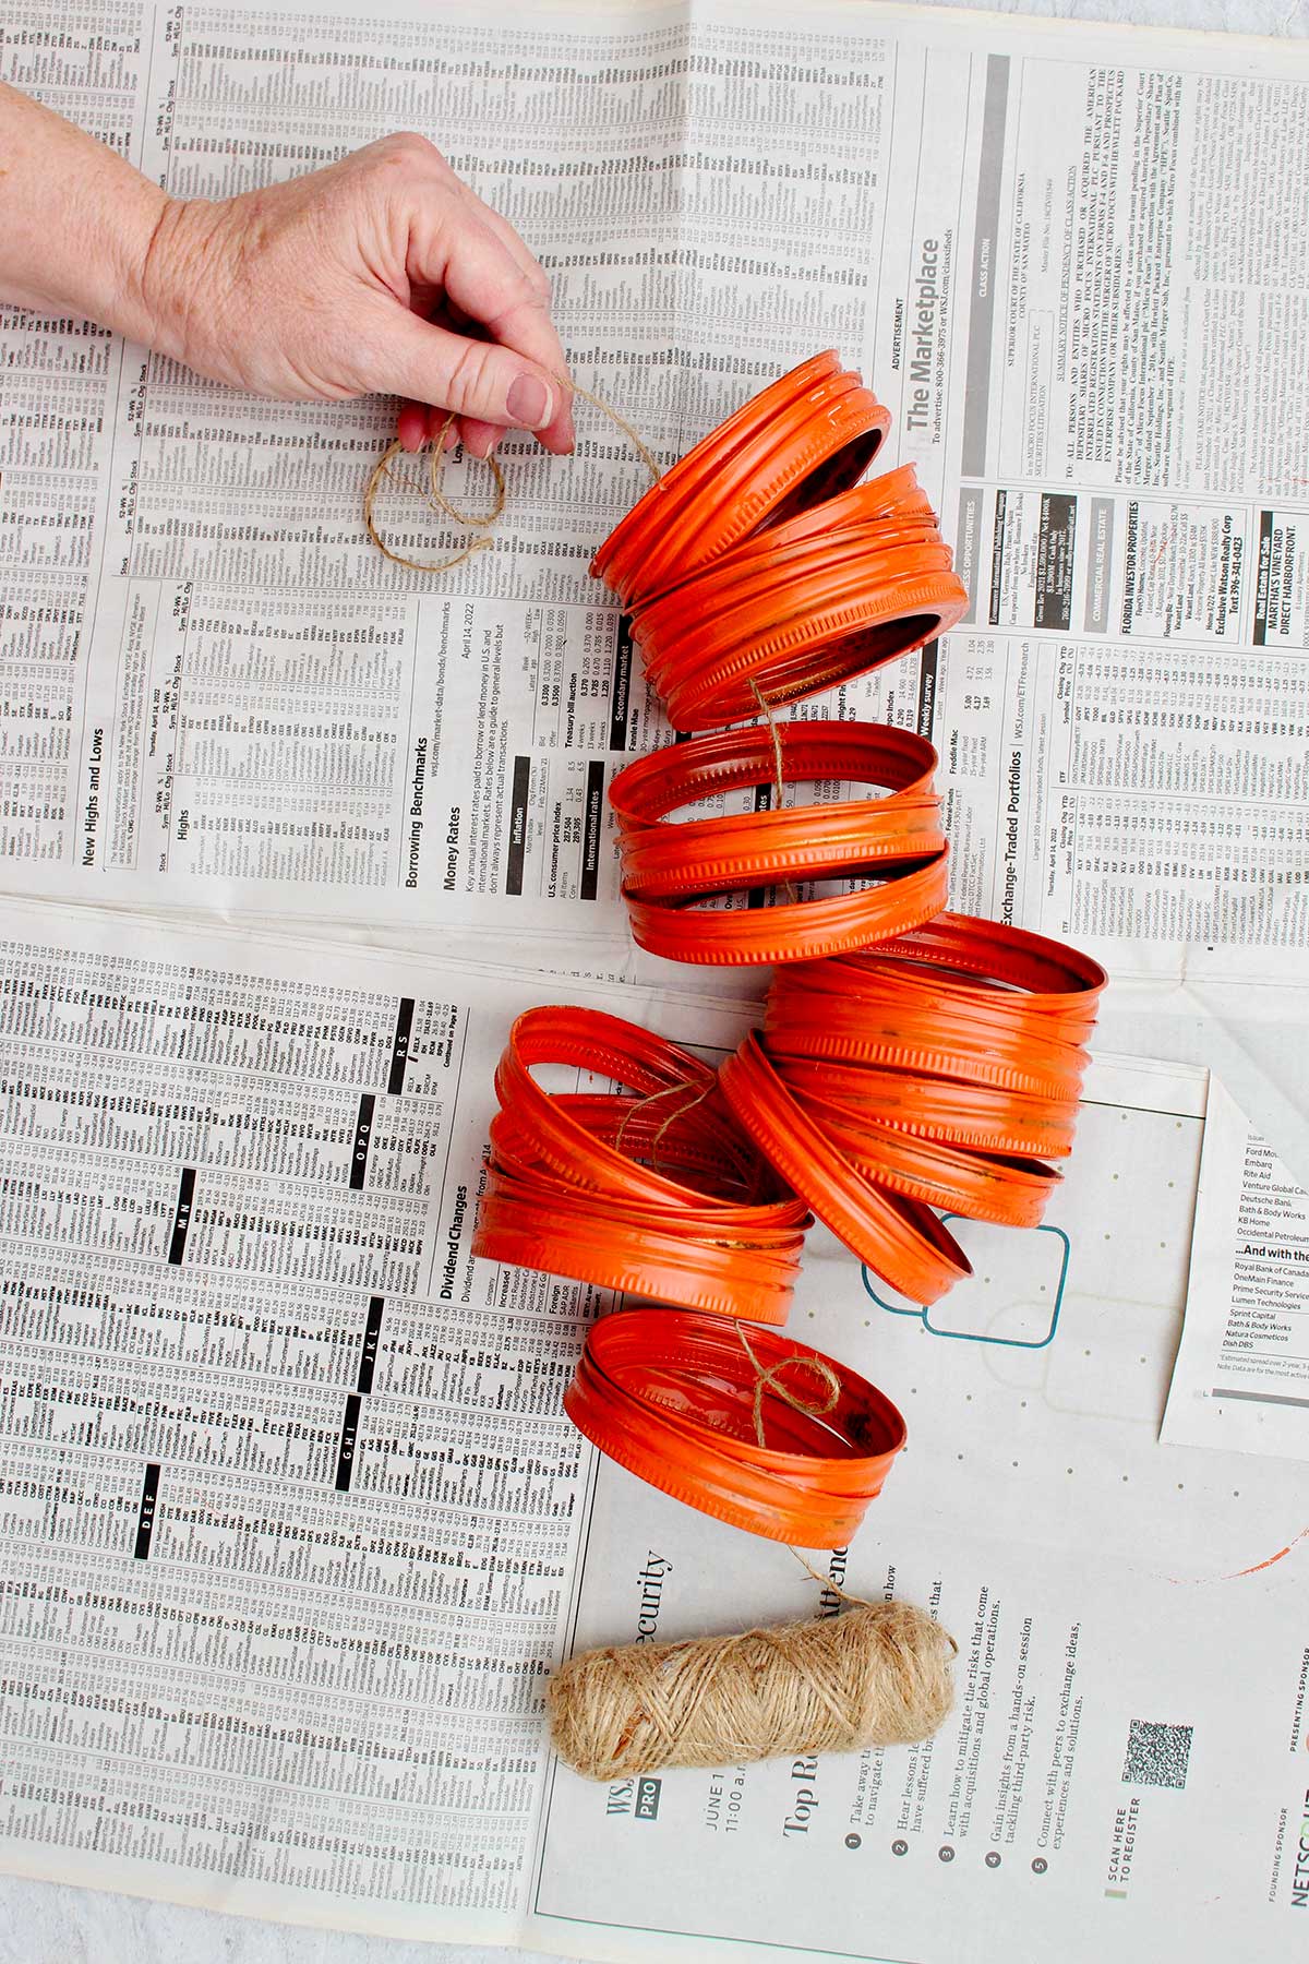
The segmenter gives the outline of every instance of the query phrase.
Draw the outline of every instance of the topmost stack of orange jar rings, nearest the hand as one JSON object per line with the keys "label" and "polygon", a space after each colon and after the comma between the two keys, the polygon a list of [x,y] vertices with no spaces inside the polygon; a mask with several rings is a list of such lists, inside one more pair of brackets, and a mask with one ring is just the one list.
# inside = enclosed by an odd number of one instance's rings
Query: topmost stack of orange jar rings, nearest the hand
{"label": "topmost stack of orange jar rings, nearest the hand", "polygon": [[657,479],[591,572],[673,729],[738,723],[944,634],[968,593],[913,465],[858,483],[889,412],[834,354],[728,416]]}

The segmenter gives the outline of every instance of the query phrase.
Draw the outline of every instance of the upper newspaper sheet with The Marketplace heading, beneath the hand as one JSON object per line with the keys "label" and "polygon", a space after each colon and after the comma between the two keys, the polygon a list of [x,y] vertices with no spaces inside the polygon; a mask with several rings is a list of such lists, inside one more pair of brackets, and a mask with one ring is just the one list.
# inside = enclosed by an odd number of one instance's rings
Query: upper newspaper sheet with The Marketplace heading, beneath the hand
{"label": "upper newspaper sheet with The Marketplace heading, beneath the hand", "polygon": [[[1301,47],[871,4],[14,0],[0,67],[179,196],[422,130],[663,462],[838,346],[971,605],[799,713],[934,738],[960,907],[1117,974],[1278,956],[1303,986]],[[495,550],[434,581],[361,530],[387,405],[269,407],[14,312],[0,361],[10,888],[620,933],[604,786],[669,731],[587,575],[644,483],[614,428],[510,444]],[[402,548],[420,511],[389,507]]]}

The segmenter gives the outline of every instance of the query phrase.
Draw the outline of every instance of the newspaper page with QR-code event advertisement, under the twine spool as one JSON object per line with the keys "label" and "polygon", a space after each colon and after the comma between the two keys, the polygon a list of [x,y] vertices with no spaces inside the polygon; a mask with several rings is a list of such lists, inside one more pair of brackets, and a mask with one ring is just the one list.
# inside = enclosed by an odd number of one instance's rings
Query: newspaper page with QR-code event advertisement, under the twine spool
{"label": "newspaper page with QR-code event advertisement, under the twine spool", "polygon": [[[907,1477],[822,1557],[818,1612],[840,1610],[836,1587],[928,1605],[960,1644],[956,1711],[899,1752],[606,1789],[555,1768],[538,1942],[663,1958],[677,1935],[699,1958],[913,1964],[989,1964],[1015,1944],[1060,1964],[1293,1954],[1303,1473],[1223,1440],[1156,1442],[1203,1114],[1195,1072],[1101,1061],[1044,1226],[952,1224],[975,1275],[930,1312],[812,1239],[797,1328],[862,1357],[911,1432]],[[1197,1255],[1213,1231],[1201,1208]],[[1293,1288],[1309,1310],[1303,1275]],[[789,1557],[738,1542],[601,1461],[573,1642],[769,1620]],[[812,1593],[793,1569],[795,1614]]]}

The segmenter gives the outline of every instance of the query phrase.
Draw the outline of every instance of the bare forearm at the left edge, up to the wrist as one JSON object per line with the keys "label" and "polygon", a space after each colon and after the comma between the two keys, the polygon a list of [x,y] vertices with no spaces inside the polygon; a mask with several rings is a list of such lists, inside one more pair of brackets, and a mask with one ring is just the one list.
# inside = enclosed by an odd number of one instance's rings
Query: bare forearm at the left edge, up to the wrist
{"label": "bare forearm at the left edge, up to the wrist", "polygon": [[0,82],[0,300],[153,342],[145,281],[169,210],[124,157]]}

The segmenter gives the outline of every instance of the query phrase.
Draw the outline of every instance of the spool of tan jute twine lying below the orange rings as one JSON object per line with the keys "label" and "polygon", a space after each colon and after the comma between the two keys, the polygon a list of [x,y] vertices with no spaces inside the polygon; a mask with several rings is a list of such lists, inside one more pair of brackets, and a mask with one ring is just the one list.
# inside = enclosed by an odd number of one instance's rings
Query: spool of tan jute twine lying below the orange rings
{"label": "spool of tan jute twine lying below the orange rings", "polygon": [[899,1746],[928,1738],[950,1711],[954,1654],[954,1638],[911,1603],[591,1650],[550,1679],[550,1732],[567,1766],[604,1781]]}

